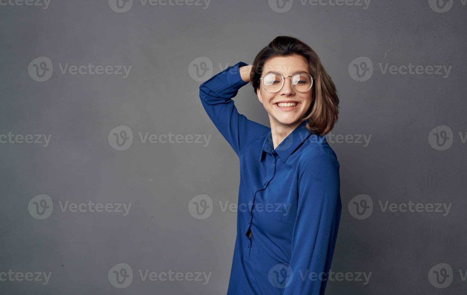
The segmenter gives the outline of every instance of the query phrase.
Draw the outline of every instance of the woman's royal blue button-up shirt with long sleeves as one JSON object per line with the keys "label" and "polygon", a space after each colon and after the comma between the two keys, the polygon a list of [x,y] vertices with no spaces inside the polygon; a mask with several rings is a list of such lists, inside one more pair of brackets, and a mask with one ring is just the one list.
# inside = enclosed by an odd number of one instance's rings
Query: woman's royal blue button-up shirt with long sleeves
{"label": "woman's royal blue button-up shirt with long sleeves", "polygon": [[205,111],[240,159],[227,295],[324,294],[342,208],[339,162],[306,121],[274,149],[270,127],[238,113],[231,98],[247,84],[244,65],[199,86]]}

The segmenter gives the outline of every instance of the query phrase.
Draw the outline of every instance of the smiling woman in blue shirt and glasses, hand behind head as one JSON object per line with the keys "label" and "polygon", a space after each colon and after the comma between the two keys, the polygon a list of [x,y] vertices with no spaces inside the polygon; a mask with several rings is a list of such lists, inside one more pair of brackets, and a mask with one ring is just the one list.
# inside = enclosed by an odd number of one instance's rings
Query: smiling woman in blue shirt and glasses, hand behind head
{"label": "smiling woman in blue shirt and glasses, hand behind head", "polygon": [[[270,127],[237,112],[251,81]],[[199,86],[240,158],[237,238],[227,295],[324,294],[340,221],[339,162],[325,139],[339,98],[316,53],[278,36]]]}

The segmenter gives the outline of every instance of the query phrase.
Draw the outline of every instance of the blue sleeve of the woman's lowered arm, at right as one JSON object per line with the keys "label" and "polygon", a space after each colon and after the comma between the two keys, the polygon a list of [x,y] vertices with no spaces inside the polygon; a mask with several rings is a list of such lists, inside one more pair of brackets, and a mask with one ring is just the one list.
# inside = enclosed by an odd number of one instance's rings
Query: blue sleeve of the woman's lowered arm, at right
{"label": "blue sleeve of the woman's lowered arm, at right", "polygon": [[333,155],[323,152],[307,159],[301,169],[289,264],[292,275],[283,295],[324,295],[342,208],[339,166]]}

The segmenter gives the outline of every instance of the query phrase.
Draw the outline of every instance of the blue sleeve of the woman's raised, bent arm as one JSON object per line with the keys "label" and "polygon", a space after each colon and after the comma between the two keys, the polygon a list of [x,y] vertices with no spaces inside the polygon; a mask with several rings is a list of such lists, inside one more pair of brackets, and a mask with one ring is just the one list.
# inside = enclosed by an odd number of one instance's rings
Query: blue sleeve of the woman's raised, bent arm
{"label": "blue sleeve of the woman's raised, bent arm", "polygon": [[240,157],[248,143],[269,131],[269,127],[247,119],[238,113],[233,98],[248,84],[241,79],[239,62],[211,77],[199,86],[199,98],[209,118]]}

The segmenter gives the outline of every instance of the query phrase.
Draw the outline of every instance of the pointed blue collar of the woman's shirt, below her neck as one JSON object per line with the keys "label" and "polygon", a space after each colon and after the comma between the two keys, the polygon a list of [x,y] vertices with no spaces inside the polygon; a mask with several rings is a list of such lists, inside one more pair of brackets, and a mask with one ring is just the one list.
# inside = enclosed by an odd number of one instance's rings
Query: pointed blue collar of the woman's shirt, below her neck
{"label": "pointed blue collar of the woman's shirt, below her neck", "polygon": [[276,151],[277,155],[281,158],[282,162],[287,161],[287,159],[292,155],[292,153],[298,148],[298,146],[306,140],[311,132],[306,129],[306,120],[300,123],[287,137],[282,140],[282,142],[274,149],[274,144],[272,142],[271,131],[266,135],[264,139],[263,146],[260,154],[260,162],[264,152],[271,153]]}

